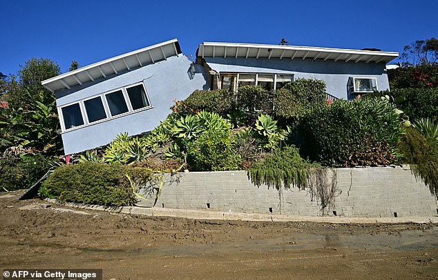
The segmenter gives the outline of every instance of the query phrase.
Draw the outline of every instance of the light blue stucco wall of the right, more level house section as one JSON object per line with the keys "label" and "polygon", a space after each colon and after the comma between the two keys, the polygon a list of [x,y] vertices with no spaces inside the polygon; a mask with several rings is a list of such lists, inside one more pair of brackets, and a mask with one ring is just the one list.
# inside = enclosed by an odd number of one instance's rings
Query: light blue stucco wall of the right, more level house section
{"label": "light blue stucco wall of the right, more level house section", "polygon": [[205,57],[211,69],[217,72],[256,72],[294,74],[294,79],[314,78],[325,81],[327,93],[341,99],[354,99],[355,95],[347,94],[347,82],[349,77],[373,77],[377,78],[379,90],[389,90],[388,76],[385,63],[365,63],[359,61],[333,61],[323,59],[267,59],[267,58],[226,58]]}

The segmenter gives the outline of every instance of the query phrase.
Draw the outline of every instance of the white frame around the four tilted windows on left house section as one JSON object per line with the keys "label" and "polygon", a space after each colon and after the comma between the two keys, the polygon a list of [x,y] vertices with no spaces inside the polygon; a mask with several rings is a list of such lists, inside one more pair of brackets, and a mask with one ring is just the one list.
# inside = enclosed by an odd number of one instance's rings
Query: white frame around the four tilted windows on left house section
{"label": "white frame around the four tilted windows on left house section", "polygon": [[[127,92],[126,89],[127,88],[132,88],[134,86],[139,86],[139,85],[142,85],[142,87],[143,87],[144,93],[146,94],[146,99],[149,102],[149,106],[145,106],[145,107],[142,107],[142,108],[138,108],[137,110],[133,110],[133,107],[131,105],[131,100],[128,97],[128,92]],[[108,101],[106,100],[106,95],[107,94],[111,94],[113,92],[117,92],[119,90],[122,90],[123,98],[124,98],[124,101],[126,103],[126,107],[128,108],[128,111],[124,112],[124,113],[121,113],[121,114],[116,114],[116,115],[113,116],[111,114],[111,110],[109,108]],[[105,110],[105,114],[106,114],[106,118],[99,119],[98,121],[90,122],[89,119],[88,119],[88,114],[86,113],[86,107],[85,107],[85,103],[84,102],[87,101],[87,100],[90,100],[90,99],[94,99],[96,97],[100,97],[100,100],[102,101],[102,104],[103,104],[104,110]],[[71,106],[71,105],[76,104],[76,103],[79,103],[79,110],[81,111],[82,120],[84,121],[84,124],[81,125],[81,126],[75,126],[74,128],[66,128],[65,122],[64,122],[64,114],[62,113],[62,108]],[[70,132],[72,130],[77,130],[77,129],[80,129],[80,128],[85,128],[87,126],[94,126],[95,124],[98,124],[98,123],[104,123],[105,121],[111,121],[112,119],[117,119],[117,118],[120,118],[120,117],[125,117],[125,116],[128,116],[129,114],[135,114],[137,112],[141,112],[143,110],[149,110],[149,109],[152,109],[152,108],[153,108],[153,106],[151,104],[151,99],[149,98],[149,94],[148,94],[148,92],[146,90],[146,86],[144,86],[143,82],[138,82],[138,83],[132,83],[132,84],[130,84],[128,86],[123,86],[123,87],[120,87],[120,88],[115,88],[113,90],[109,90],[109,91],[106,91],[106,92],[95,94],[95,95],[93,95],[91,97],[87,97],[85,99],[80,99],[78,101],[73,101],[73,102],[70,102],[70,103],[66,103],[66,104],[64,104],[62,106],[57,107],[57,112],[58,112],[58,116],[59,116],[59,122],[61,124],[61,134],[63,134],[64,132]]]}

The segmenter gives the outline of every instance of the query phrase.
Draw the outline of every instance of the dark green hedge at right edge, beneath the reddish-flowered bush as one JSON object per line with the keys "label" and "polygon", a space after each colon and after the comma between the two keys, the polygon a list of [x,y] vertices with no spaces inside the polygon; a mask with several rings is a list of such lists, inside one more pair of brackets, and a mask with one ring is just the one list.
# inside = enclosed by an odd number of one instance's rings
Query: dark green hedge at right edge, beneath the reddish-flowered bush
{"label": "dark green hedge at right edge, beneath the reddish-flowered bush", "polygon": [[399,108],[408,114],[411,121],[438,116],[438,87],[402,88],[392,90],[389,94]]}

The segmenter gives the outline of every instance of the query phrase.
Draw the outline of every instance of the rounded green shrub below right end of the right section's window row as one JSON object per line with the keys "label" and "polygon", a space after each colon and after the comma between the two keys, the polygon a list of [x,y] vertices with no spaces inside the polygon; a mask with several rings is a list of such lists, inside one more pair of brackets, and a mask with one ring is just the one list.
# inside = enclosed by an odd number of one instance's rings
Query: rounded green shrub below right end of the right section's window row
{"label": "rounded green shrub below right end of the right section's window row", "polygon": [[325,82],[317,79],[296,79],[275,90],[274,114],[278,119],[294,121],[316,106],[327,103]]}

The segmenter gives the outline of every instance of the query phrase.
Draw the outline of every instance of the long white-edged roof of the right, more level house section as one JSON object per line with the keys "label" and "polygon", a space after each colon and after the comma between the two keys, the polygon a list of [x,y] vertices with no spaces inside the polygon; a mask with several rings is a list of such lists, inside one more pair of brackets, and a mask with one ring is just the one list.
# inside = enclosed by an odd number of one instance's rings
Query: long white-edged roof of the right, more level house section
{"label": "long white-edged roof of the right, more level house section", "polygon": [[348,50],[339,48],[319,48],[305,46],[265,45],[253,43],[204,42],[199,45],[198,57],[238,57],[267,59],[327,59],[334,61],[365,61],[369,63],[388,63],[399,56],[398,52],[376,50]]}

